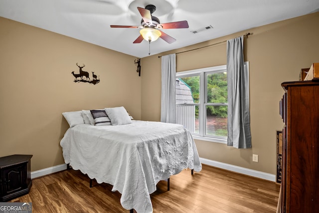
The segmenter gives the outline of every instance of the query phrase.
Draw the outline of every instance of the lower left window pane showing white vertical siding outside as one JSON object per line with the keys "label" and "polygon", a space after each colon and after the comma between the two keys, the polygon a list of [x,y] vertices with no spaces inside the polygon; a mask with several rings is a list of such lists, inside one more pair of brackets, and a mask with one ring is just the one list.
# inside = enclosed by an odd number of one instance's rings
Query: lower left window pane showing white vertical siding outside
{"label": "lower left window pane showing white vertical siding outside", "polygon": [[198,106],[177,105],[176,123],[183,125],[190,133],[199,133]]}

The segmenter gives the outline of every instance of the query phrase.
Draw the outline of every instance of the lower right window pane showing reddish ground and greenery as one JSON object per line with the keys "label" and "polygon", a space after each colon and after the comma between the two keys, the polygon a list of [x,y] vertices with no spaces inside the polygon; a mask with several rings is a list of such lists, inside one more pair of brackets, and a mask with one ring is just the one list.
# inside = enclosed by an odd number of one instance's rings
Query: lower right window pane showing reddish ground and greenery
{"label": "lower right window pane showing reddish ground and greenery", "polygon": [[227,137],[227,106],[206,106],[206,135]]}

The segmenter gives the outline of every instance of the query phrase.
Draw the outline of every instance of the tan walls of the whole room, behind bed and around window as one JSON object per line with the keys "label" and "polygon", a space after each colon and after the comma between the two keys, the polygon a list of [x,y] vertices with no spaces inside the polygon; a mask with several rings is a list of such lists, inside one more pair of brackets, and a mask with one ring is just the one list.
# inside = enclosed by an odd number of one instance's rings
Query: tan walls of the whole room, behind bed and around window
{"label": "tan walls of the whole room, behind bed and around window", "polygon": [[[276,130],[283,127],[280,84],[298,80],[301,68],[319,62],[318,22],[317,12],[160,54],[253,33],[245,39],[253,148],[196,140],[200,157],[276,173]],[[32,171],[64,163],[59,142],[68,128],[65,111],[123,105],[136,119],[160,120],[159,55],[142,58],[139,77],[133,56],[2,17],[0,25],[0,156],[32,154]],[[73,82],[76,62],[101,82]],[[177,71],[223,64],[225,43],[177,54]],[[253,153],[259,163],[252,162]]]}

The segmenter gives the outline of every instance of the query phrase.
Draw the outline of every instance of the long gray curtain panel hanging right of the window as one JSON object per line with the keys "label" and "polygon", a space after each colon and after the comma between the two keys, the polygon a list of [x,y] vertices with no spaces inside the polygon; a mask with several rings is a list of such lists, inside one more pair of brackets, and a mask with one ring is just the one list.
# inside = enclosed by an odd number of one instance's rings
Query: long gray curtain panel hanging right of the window
{"label": "long gray curtain panel hanging right of the window", "polygon": [[249,73],[244,63],[244,36],[227,41],[227,145],[251,148]]}

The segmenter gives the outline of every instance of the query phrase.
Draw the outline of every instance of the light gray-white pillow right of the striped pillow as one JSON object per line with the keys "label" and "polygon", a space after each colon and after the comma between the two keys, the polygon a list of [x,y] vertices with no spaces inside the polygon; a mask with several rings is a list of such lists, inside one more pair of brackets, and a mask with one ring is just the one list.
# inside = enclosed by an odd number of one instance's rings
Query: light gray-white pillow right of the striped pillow
{"label": "light gray-white pillow right of the striped pillow", "polygon": [[121,107],[105,108],[106,114],[109,116],[113,126],[132,124],[129,113]]}

